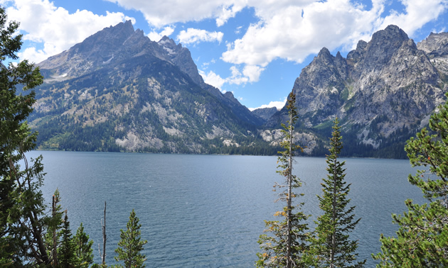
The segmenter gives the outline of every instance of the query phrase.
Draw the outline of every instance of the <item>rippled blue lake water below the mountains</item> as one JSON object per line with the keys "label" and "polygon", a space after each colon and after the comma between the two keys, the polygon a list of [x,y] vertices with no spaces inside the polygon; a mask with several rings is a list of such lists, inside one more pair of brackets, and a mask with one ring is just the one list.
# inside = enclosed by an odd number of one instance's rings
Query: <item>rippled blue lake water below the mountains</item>
{"label": "rippled blue lake water below the mountains", "polygon": [[[107,201],[107,264],[114,260],[119,230],[135,209],[142,224],[146,267],[253,267],[264,220],[284,206],[274,203],[277,157],[233,155],[161,155],[103,152],[30,152],[43,155],[50,203],[56,188],[75,233],[79,224],[94,241],[100,263],[101,220]],[[319,215],[324,158],[297,157],[294,173],[304,186],[303,210]],[[420,189],[407,182],[415,173],[406,160],[346,160],[351,206],[361,222],[351,234],[359,240],[360,259],[374,267],[380,234],[395,235],[391,213],[402,213],[405,199],[421,203]]]}

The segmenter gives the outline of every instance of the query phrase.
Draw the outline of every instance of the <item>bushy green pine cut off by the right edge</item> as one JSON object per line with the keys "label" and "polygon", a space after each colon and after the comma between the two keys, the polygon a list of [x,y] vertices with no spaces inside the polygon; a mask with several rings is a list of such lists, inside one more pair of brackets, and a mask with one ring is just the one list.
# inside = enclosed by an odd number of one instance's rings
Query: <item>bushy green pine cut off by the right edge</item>
{"label": "bushy green pine cut off by the right edge", "polygon": [[[446,95],[448,98],[448,94]],[[448,104],[432,114],[427,128],[407,141],[412,167],[425,167],[408,177],[430,202],[407,199],[408,211],[392,218],[400,228],[396,238],[381,235],[381,251],[374,255],[378,267],[448,267]]]}

